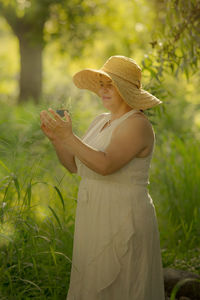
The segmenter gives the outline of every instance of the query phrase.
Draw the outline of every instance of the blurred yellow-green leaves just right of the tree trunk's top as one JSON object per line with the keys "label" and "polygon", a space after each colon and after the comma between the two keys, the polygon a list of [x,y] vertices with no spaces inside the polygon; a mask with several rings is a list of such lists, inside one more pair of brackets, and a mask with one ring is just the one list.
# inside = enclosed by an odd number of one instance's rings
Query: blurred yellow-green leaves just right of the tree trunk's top
{"label": "blurred yellow-green leaves just right of the tree trunk's top", "polygon": [[91,43],[98,23],[95,22],[98,1],[58,1],[50,8],[50,17],[45,24],[46,42],[58,39],[60,50],[68,51],[72,58],[80,56],[85,44]]}

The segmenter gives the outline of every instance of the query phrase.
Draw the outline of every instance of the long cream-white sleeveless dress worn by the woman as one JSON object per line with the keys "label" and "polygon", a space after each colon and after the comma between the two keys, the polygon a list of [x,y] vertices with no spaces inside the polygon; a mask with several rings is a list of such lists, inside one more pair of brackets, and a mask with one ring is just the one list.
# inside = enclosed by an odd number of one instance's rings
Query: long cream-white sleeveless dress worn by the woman
{"label": "long cream-white sleeveless dress worn by the woman", "polygon": [[[104,151],[131,110],[104,128],[97,117],[83,142]],[[148,193],[153,151],[102,176],[76,157],[79,186],[67,300],[164,300],[160,238]]]}

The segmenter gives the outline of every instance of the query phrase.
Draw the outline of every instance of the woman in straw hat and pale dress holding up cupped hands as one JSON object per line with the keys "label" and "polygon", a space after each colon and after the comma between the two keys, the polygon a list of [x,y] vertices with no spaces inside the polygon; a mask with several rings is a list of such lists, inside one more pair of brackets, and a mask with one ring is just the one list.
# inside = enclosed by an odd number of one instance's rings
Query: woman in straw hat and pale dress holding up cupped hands
{"label": "woman in straw hat and pale dress holding up cupped hands", "polygon": [[124,56],[73,77],[110,113],[81,140],[71,119],[41,112],[41,128],[61,163],[78,173],[72,269],[67,300],[164,300],[156,212],[148,193],[155,135],[142,112],[161,103],[141,89],[141,69]]}

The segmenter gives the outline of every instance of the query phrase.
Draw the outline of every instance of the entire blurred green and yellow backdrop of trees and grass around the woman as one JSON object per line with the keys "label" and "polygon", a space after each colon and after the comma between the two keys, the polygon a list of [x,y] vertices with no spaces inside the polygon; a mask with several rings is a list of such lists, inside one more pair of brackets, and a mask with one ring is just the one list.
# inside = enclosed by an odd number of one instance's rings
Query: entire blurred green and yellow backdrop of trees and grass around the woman
{"label": "entire blurred green and yellow backdrop of trees and grass around the woman", "polygon": [[68,108],[82,136],[105,111],[72,76],[125,55],[163,101],[149,193],[164,267],[200,274],[200,1],[0,0],[0,299],[65,299],[80,178],[39,113]]}

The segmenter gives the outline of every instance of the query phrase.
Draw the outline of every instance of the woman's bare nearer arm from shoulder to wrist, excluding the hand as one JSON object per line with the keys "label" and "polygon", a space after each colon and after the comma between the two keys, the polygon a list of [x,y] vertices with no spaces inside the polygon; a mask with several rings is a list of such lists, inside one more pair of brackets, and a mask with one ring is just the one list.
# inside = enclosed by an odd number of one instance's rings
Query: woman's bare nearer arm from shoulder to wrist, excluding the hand
{"label": "woman's bare nearer arm from shoulder to wrist, excluding the hand", "polygon": [[148,146],[147,132],[149,133],[147,121],[134,117],[125,120],[116,128],[104,152],[85,145],[74,134],[64,143],[88,168],[101,175],[109,175],[122,168]]}

